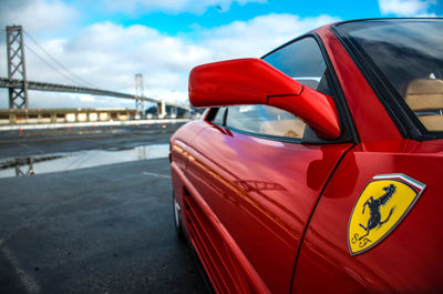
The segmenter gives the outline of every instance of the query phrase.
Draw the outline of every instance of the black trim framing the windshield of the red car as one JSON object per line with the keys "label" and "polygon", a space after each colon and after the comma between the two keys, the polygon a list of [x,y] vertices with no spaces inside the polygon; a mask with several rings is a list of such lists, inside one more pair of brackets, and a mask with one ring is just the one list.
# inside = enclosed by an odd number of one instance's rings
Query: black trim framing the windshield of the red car
{"label": "black trim framing the windshield of the red car", "polygon": [[[440,19],[440,18],[436,18]],[[414,112],[408,107],[404,99],[398,93],[388,78],[380,71],[380,69],[373,63],[370,57],[365,52],[360,50],[359,44],[352,41],[352,37],[349,34],[338,32],[337,27],[350,23],[350,22],[362,22],[362,21],[377,21],[377,20],[400,20],[400,21],[415,21],[415,20],[429,20],[429,18],[384,18],[384,19],[364,19],[364,20],[351,20],[343,21],[331,26],[330,31],[337,37],[352,61],[359,68],[360,72],[365,78],[367,82],[375,93],[379,101],[382,103],[388,114],[396,125],[399,132],[404,139],[411,139],[415,141],[436,140],[443,138],[443,132],[431,132],[420,122]]]}

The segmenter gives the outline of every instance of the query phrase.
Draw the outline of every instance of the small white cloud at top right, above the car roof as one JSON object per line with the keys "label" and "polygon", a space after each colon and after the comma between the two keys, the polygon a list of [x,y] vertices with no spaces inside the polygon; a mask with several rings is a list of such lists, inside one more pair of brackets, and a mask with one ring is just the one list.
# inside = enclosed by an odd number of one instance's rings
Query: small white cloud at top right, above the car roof
{"label": "small white cloud at top right, above the car roof", "polygon": [[382,14],[393,13],[399,17],[430,16],[429,8],[437,0],[379,0]]}

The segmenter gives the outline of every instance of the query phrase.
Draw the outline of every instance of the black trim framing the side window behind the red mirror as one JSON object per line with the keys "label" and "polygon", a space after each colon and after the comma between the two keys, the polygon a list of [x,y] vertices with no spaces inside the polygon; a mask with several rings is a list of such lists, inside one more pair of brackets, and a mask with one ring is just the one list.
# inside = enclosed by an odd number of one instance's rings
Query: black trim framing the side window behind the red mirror
{"label": "black trim framing the side window behind the red mirror", "polygon": [[[338,139],[334,140],[326,140],[326,139],[320,139],[320,138],[313,138],[311,140],[303,140],[303,139],[299,139],[299,138],[286,138],[286,136],[276,136],[276,135],[268,135],[268,134],[260,134],[260,133],[254,133],[254,132],[248,132],[248,131],[244,131],[244,130],[238,130],[236,128],[231,128],[231,126],[227,126],[226,125],[226,118],[228,115],[228,108],[225,111],[225,115],[224,115],[224,120],[223,120],[223,128],[226,128],[228,130],[231,130],[234,132],[237,133],[243,133],[243,134],[247,134],[247,135],[251,135],[251,136],[257,136],[257,138],[261,138],[261,139],[269,139],[269,140],[274,140],[274,141],[281,141],[281,142],[289,142],[289,143],[302,143],[302,144],[337,144],[337,143],[358,143],[360,141],[358,133],[356,131],[356,125],[352,119],[352,115],[350,113],[348,103],[344,99],[344,94],[343,91],[341,89],[340,82],[337,78],[336,74],[336,70],[332,67],[332,62],[329,59],[328,52],[324,48],[323,42],[321,41],[320,37],[317,33],[306,33],[302,34],[298,38],[295,38],[286,43],[284,43],[282,45],[274,49],[272,51],[266,53],[265,55],[262,55],[260,59],[266,58],[267,55],[282,49],[284,47],[287,47],[293,42],[297,42],[301,39],[305,38],[312,38],[318,47],[320,48],[320,52],[323,57],[324,63],[327,65],[327,70],[329,71],[329,78],[330,78],[330,82],[331,85],[333,87],[333,89],[331,89],[332,91],[334,91],[337,98],[332,98],[337,108],[337,113],[339,115],[339,123],[340,123],[340,130],[341,130],[341,134]],[[219,108],[213,108],[210,109],[209,115],[207,121],[212,121],[214,120],[217,111]],[[306,128],[309,128],[309,125],[307,125]],[[313,132],[311,132],[311,135],[313,134]],[[315,135],[315,134],[313,134]]]}

